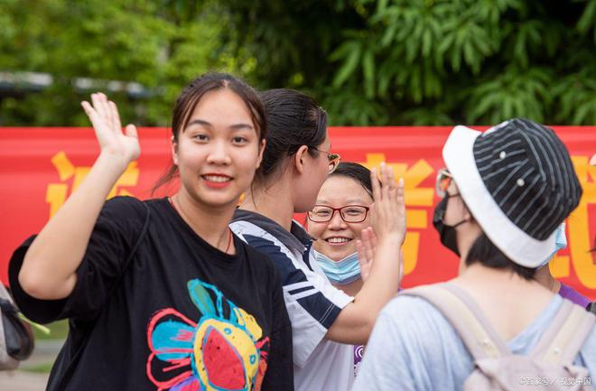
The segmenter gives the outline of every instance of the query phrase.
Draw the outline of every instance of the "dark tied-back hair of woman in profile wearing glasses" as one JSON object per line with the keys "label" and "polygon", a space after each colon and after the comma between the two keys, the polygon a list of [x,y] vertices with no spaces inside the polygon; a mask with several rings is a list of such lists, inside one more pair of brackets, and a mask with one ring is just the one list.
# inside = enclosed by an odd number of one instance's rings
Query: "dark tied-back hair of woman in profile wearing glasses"
{"label": "dark tied-back hair of woman in profile wearing glasses", "polygon": [[317,102],[300,91],[288,88],[261,92],[267,118],[267,145],[255,181],[262,183],[278,172],[286,156],[303,145],[316,157],[316,149],[327,135],[327,113]]}

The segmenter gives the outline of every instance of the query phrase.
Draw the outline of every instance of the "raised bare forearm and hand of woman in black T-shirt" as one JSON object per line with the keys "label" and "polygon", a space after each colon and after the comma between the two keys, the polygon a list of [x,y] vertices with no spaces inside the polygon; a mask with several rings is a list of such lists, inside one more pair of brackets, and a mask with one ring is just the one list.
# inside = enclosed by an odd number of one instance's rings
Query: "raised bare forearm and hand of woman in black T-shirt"
{"label": "raised bare forearm and hand of woman in black T-shirt", "polygon": [[19,282],[23,290],[44,300],[64,299],[77,282],[77,269],[107,194],[128,163],[140,154],[135,126],[123,133],[116,104],[104,94],[82,102],[101,153],[79,187],[48,221],[23,259]]}

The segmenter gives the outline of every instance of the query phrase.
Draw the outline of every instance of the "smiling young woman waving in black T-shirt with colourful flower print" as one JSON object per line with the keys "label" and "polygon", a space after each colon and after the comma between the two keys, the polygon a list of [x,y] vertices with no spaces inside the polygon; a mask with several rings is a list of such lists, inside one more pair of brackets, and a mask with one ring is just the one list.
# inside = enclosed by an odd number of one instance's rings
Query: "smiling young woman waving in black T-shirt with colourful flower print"
{"label": "smiling young woman waving in black T-shirt with colourful flower print", "polygon": [[172,120],[171,198],[105,202],[140,154],[116,105],[82,106],[101,153],[37,237],[11,260],[16,302],[34,321],[70,319],[49,390],[292,390],[292,335],[272,262],[228,223],[265,148],[253,88],[210,73]]}

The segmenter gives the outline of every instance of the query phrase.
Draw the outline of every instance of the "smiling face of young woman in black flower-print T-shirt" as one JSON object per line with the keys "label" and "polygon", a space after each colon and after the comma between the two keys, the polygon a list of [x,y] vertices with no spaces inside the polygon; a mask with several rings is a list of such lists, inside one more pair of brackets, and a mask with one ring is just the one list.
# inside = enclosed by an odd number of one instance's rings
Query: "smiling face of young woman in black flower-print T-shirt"
{"label": "smiling face of young woman in black flower-print T-shirt", "polygon": [[263,145],[242,98],[228,88],[207,92],[172,143],[180,191],[201,204],[234,207],[255,176]]}

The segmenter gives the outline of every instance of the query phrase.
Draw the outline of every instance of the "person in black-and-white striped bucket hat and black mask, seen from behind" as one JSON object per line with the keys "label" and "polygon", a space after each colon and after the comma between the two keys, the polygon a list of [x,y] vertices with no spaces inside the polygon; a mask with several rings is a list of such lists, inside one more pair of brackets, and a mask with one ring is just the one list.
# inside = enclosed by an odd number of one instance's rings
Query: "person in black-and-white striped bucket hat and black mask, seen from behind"
{"label": "person in black-and-white striped bucket hat and black mask, seen from behind", "polygon": [[[550,128],[516,118],[484,133],[455,126],[442,156],[433,225],[460,256],[460,275],[386,305],[353,390],[488,389],[472,386],[479,377],[493,386],[513,382],[491,389],[517,389],[524,370],[541,368],[535,350],[563,330],[573,337],[555,350],[566,365],[552,368],[591,381],[594,316],[535,281],[582,196],[565,146]],[[576,321],[565,323],[572,312]],[[526,361],[517,370],[506,358]]]}

